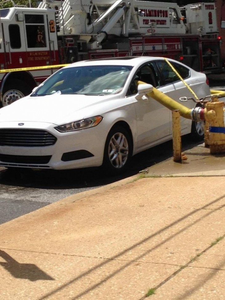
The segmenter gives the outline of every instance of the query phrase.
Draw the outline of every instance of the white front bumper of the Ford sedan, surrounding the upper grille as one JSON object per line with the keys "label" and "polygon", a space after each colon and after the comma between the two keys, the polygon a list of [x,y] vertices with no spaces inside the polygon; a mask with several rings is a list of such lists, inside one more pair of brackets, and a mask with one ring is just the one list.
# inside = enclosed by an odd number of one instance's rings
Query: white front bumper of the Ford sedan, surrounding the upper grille
{"label": "white front bumper of the Ford sedan, surrounding the upper grille", "polygon": [[[19,122],[1,122],[1,129],[18,129]],[[57,138],[52,146],[0,146],[0,166],[75,169],[98,167],[102,164],[107,132],[103,126],[60,133],[56,125],[43,122],[26,122],[24,129],[39,129]],[[19,127],[21,129],[21,126]]]}

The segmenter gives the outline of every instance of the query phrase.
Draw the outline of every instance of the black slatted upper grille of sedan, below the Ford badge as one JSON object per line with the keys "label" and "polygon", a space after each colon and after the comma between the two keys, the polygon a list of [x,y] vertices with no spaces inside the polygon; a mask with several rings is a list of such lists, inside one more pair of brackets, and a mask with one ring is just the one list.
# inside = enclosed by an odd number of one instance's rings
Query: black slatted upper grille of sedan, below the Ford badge
{"label": "black slatted upper grille of sedan, below the Ford badge", "polygon": [[57,138],[45,130],[0,129],[0,146],[46,147],[56,141]]}

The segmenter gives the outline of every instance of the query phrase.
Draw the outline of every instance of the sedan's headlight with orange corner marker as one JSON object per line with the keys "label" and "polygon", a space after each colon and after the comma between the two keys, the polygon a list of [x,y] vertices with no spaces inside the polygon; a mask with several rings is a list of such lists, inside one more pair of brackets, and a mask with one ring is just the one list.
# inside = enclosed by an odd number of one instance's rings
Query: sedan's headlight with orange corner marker
{"label": "sedan's headlight with orange corner marker", "polygon": [[59,132],[70,132],[75,130],[86,129],[90,127],[95,127],[101,122],[102,119],[103,119],[102,116],[95,116],[85,120],[80,120],[80,121],[75,121],[64,125],[60,125],[55,127],[55,129]]}

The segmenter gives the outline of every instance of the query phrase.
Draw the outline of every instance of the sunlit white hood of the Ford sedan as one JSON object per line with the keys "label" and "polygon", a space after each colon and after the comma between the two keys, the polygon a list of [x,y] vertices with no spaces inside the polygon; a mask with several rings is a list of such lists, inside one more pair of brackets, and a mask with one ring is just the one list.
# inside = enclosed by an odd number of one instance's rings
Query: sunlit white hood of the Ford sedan
{"label": "sunlit white hood of the Ford sedan", "polygon": [[[100,114],[102,103],[112,96],[47,95],[24,97],[0,109],[0,122],[46,122],[62,125]],[[94,113],[94,115],[93,115]]]}

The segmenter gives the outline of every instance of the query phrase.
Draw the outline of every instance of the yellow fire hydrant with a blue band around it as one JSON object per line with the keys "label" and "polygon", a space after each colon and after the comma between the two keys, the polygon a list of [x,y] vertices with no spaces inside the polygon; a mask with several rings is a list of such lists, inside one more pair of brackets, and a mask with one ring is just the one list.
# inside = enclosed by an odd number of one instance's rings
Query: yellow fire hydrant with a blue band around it
{"label": "yellow fire hydrant with a blue band around it", "polygon": [[225,152],[224,105],[217,97],[213,97],[212,102],[205,104],[205,119],[209,123],[206,142],[212,154]]}

